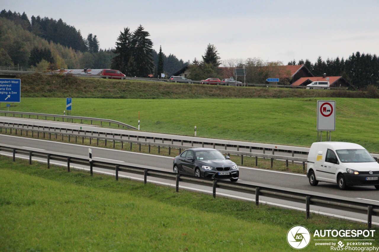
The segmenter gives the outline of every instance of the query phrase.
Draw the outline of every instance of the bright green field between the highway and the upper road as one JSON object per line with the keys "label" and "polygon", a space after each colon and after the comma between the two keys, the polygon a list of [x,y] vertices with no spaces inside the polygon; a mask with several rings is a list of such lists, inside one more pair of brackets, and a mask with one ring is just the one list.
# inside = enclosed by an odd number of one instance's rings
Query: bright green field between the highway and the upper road
{"label": "bright green field between the highway and the upper road", "polygon": [[[322,98],[285,99],[91,99],[73,98],[72,114],[108,118],[141,130],[281,145],[310,146],[317,140],[316,106]],[[333,141],[354,142],[379,153],[379,100],[334,98]],[[1,104],[4,110],[5,104]],[[22,98],[10,110],[63,114],[65,98]],[[324,136],[325,137],[325,136]]]}

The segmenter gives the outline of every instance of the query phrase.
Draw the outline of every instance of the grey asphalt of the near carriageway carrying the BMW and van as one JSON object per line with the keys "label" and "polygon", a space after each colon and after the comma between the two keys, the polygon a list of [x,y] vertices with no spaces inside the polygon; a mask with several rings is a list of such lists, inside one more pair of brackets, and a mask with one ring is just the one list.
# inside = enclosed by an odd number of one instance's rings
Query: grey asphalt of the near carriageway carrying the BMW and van
{"label": "grey asphalt of the near carriageway carrying the BMW and van", "polygon": [[[139,166],[142,168],[157,169],[162,171],[172,171],[172,157],[158,156],[146,153],[115,150],[108,148],[99,148],[96,146],[75,145],[71,143],[61,143],[49,140],[15,137],[10,135],[0,135],[0,145],[19,146],[19,148],[31,148],[48,150],[52,152],[67,153],[77,157],[87,158],[88,149],[92,149],[94,160],[119,164]],[[337,185],[322,183],[318,186],[311,187],[308,179],[304,174],[288,173],[266,169],[258,169],[246,166],[240,166],[240,183],[245,184],[263,184],[272,185],[289,191],[298,191],[302,193],[321,193],[346,198],[359,198],[379,201],[379,193],[373,186],[351,187],[349,190],[341,191]]]}

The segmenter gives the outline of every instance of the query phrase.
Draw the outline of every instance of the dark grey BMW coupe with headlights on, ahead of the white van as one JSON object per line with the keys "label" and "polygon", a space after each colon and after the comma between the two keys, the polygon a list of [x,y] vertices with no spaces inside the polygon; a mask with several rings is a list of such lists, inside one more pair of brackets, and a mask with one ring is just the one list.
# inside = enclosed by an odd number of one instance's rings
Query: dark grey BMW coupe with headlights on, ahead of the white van
{"label": "dark grey BMW coupe with headlights on, ahead of the white van", "polygon": [[237,181],[238,165],[229,156],[210,148],[186,149],[176,156],[173,163],[174,173],[207,177],[211,179],[230,179]]}

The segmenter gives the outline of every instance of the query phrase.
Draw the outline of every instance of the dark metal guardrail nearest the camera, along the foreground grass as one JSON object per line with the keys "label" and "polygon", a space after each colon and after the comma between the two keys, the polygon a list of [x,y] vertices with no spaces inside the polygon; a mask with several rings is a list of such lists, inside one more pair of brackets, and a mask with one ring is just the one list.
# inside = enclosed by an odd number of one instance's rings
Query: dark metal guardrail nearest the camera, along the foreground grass
{"label": "dark metal guardrail nearest the camera, along the foreground grass", "polygon": [[306,219],[310,218],[310,205],[316,205],[316,206],[333,208],[333,209],[342,209],[348,212],[367,213],[367,228],[371,229],[372,216],[379,213],[379,205],[375,203],[368,204],[368,203],[350,201],[350,200],[345,200],[345,199],[328,198],[328,197],[318,196],[316,194],[310,194],[310,193],[295,193],[295,192],[285,191],[285,190],[281,190],[281,189],[277,189],[273,187],[262,187],[262,186],[257,186],[257,185],[208,179],[208,178],[202,178],[202,177],[193,177],[193,176],[175,174],[175,173],[166,172],[166,171],[146,169],[146,168],[141,168],[138,166],[127,166],[127,165],[120,165],[117,163],[100,162],[100,161],[94,161],[94,160],[90,162],[88,159],[59,155],[52,152],[31,151],[28,149],[13,148],[10,146],[0,146],[0,150],[12,152],[13,161],[15,161],[16,159],[16,153],[28,154],[30,164],[31,164],[31,160],[33,156],[45,157],[47,159],[47,168],[50,168],[50,160],[60,160],[64,162],[67,161],[68,172],[70,172],[71,163],[89,165],[91,176],[93,175],[93,168],[99,167],[99,168],[114,170],[116,173],[116,180],[118,180],[119,171],[123,171],[127,173],[143,174],[144,184],[147,183],[147,176],[163,177],[165,179],[175,180],[176,182],[175,188],[176,188],[177,193],[179,193],[179,182],[188,182],[192,184],[212,186],[213,198],[216,198],[216,188],[222,188],[222,189],[226,189],[230,191],[238,191],[238,192],[244,192],[244,193],[254,193],[255,204],[257,206],[259,205],[260,196],[283,199],[283,200],[291,201],[291,202],[301,202],[301,203],[305,203],[305,213],[306,213],[305,218]]}

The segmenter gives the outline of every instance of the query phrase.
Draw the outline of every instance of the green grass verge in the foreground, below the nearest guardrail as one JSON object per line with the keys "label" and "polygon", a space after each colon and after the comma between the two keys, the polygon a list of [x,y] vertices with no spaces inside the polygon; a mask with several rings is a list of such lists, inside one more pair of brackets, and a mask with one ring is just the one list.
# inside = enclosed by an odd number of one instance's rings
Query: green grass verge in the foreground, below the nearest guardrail
{"label": "green grass verge in the foreground, below the nearest guardrail", "polygon": [[304,212],[0,156],[1,251],[290,251],[285,237],[294,225],[311,232],[365,229],[364,223],[315,214],[305,220]]}

